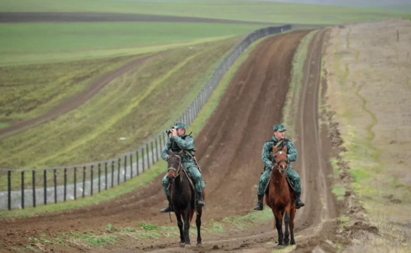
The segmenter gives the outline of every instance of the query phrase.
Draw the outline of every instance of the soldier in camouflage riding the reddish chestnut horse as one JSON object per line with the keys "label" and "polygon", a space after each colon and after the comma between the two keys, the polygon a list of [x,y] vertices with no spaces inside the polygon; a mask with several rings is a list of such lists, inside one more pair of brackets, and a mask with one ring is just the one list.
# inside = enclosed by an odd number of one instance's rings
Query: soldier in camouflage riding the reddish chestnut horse
{"label": "soldier in camouflage riding the reddish chestnut horse", "polygon": [[295,188],[295,207],[298,209],[305,204],[301,201],[301,180],[297,172],[291,167],[291,162],[297,160],[297,150],[291,140],[285,139],[285,127],[283,124],[275,124],[273,126],[274,136],[271,140],[266,141],[261,152],[261,159],[264,163],[264,173],[261,175],[258,182],[258,202],[254,206],[254,210],[263,210],[263,197],[265,189],[270,178],[270,174],[273,171],[273,146],[276,148],[287,147],[288,168],[286,176],[293,183]]}

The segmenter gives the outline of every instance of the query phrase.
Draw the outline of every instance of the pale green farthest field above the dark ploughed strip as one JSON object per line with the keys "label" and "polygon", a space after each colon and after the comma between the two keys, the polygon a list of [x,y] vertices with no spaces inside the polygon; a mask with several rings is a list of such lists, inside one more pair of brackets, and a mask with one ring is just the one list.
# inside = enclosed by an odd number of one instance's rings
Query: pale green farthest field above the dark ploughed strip
{"label": "pale green farthest field above the dark ploughed strip", "polygon": [[[98,3],[98,4],[97,4]],[[5,12],[114,12],[275,23],[339,24],[404,16],[404,12],[257,1],[0,0]],[[258,15],[256,15],[258,13]]]}

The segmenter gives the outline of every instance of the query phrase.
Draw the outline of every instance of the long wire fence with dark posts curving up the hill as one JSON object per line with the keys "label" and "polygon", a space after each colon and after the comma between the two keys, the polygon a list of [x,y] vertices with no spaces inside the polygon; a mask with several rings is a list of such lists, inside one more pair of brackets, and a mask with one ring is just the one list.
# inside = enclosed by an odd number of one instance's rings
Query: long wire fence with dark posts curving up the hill
{"label": "long wire fence with dark posts curving up the hill", "polygon": [[[239,41],[215,68],[194,101],[176,119],[190,125],[209,99],[221,77],[255,40],[291,29],[291,25],[255,30]],[[161,159],[165,132],[114,159],[81,165],[14,170],[0,168],[0,209],[46,205],[91,196],[138,177]]]}

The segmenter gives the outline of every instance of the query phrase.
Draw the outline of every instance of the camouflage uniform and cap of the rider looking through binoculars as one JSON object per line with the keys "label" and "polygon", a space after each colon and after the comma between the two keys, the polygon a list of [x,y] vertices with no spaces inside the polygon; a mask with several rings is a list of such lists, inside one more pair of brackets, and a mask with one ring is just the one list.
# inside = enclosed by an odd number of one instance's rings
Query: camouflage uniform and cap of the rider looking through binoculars
{"label": "camouflage uniform and cap of the rider looking through binoculars", "polygon": [[[173,126],[174,129],[178,128],[183,128],[186,129],[186,125],[183,123],[177,123],[175,126]],[[163,160],[167,161],[168,158],[168,151],[172,150],[173,152],[180,152],[181,150],[186,150],[186,151],[192,151],[194,150],[194,139],[190,135],[183,135],[181,137],[179,136],[171,136],[166,144],[164,145],[163,151],[161,153],[161,157]],[[181,165],[187,169],[187,171],[190,173],[190,176],[193,180],[193,183],[196,187],[197,194],[198,194],[198,205],[201,205],[202,203],[202,192],[203,192],[203,177],[201,176],[200,171],[198,170],[196,163],[194,162],[194,159],[187,153],[183,153],[181,157]],[[167,174],[164,175],[162,179],[162,185],[164,192],[167,196],[167,199],[170,201],[170,191],[168,190],[168,176]],[[201,201],[201,203],[200,203]],[[169,206],[170,207],[170,206]],[[163,208],[162,213],[168,213],[169,210],[166,208]]]}

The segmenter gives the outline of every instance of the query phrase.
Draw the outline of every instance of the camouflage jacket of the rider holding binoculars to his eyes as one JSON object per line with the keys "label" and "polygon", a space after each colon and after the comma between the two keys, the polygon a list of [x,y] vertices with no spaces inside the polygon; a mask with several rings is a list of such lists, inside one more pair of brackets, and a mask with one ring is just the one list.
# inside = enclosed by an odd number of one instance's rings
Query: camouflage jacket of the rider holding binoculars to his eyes
{"label": "camouflage jacket of the rider holding binoculars to his eyes", "polygon": [[[161,157],[163,160],[167,161],[168,158],[168,151],[172,150],[173,152],[179,152],[181,150],[191,151],[194,150],[194,139],[190,135],[183,135],[181,137],[178,136],[171,136],[166,144],[164,145],[163,151],[161,152]],[[182,154],[181,164],[184,167],[188,166],[195,166],[195,162],[193,158],[186,154],[185,152]]]}

